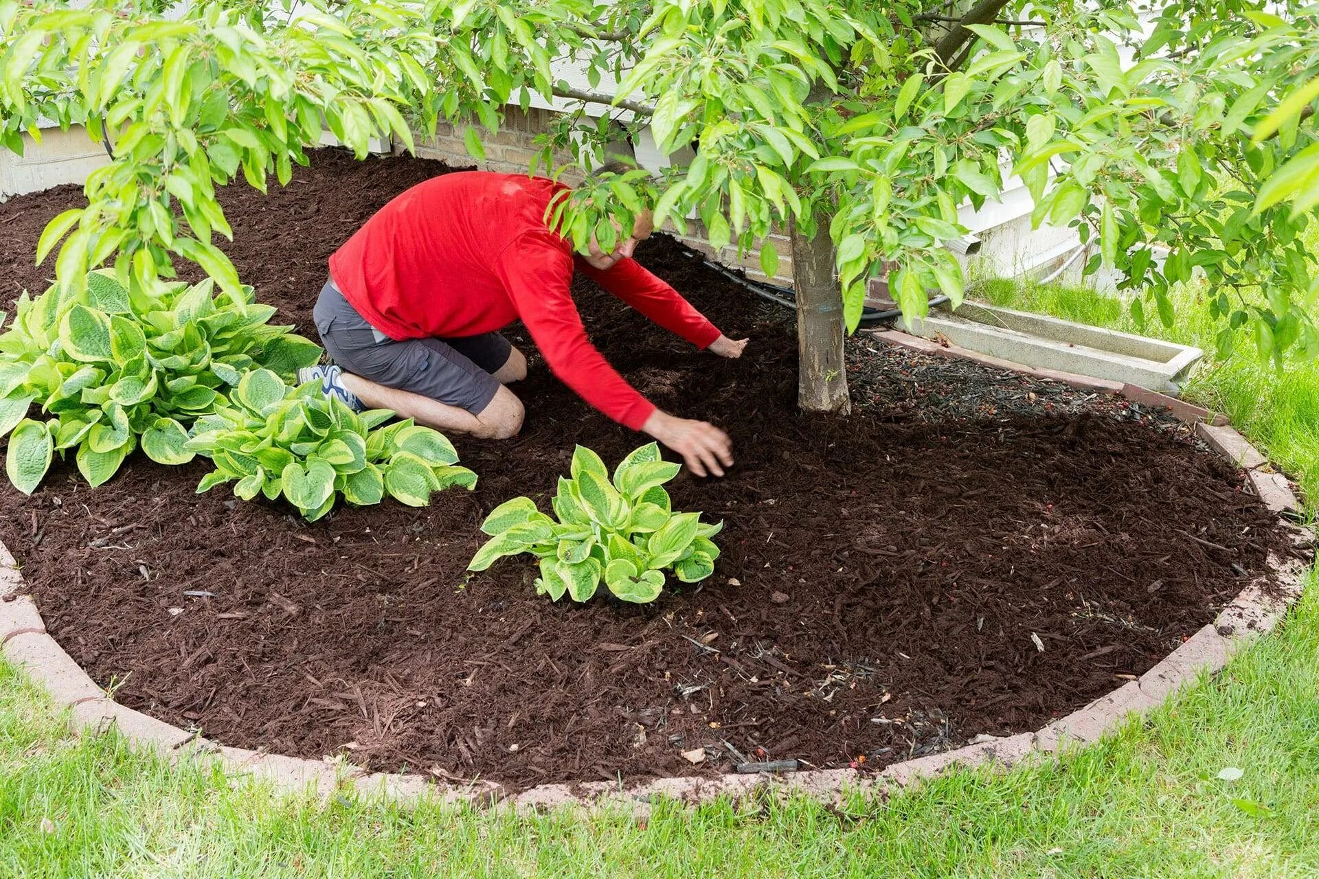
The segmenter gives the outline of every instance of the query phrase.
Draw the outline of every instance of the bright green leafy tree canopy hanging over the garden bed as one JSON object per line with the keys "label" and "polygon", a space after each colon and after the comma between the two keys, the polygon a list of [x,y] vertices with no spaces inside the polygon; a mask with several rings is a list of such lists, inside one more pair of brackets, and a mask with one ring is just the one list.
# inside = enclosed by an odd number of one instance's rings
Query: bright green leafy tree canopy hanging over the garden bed
{"label": "bright green leafy tree canopy hanging over the garden bed", "polygon": [[[173,258],[239,290],[216,182],[284,183],[327,125],[364,156],[439,120],[480,156],[509,104],[575,101],[545,138],[588,165],[650,125],[661,178],[601,175],[553,219],[579,246],[644,208],[752,249],[773,225],[827,229],[845,319],[886,264],[904,308],[960,299],[944,244],[958,206],[1020,175],[1035,220],[1097,240],[1132,308],[1173,320],[1171,285],[1202,270],[1227,352],[1319,353],[1319,286],[1301,232],[1319,204],[1319,7],[1248,0],[148,0],[0,1],[0,138],[42,117],[86,124],[113,162],[88,204],[51,221],[45,256],[78,285],[112,262],[150,283]],[[557,78],[587,72],[601,95]],[[613,95],[617,95],[615,98]],[[323,120],[323,121],[322,121]],[[571,132],[571,136],[570,136]],[[542,166],[543,167],[543,166]],[[1005,174],[1005,169],[1008,173]],[[62,241],[62,244],[61,244]],[[1166,249],[1167,258],[1157,260]],[[765,268],[774,256],[764,252]]]}

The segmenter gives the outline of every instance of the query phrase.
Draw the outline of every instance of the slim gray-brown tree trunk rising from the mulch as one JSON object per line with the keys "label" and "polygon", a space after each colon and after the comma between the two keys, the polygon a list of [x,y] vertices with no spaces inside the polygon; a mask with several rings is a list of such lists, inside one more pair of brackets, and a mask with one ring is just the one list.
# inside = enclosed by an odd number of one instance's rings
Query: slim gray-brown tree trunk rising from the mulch
{"label": "slim gray-brown tree trunk rising from the mulch", "polygon": [[797,291],[797,402],[811,412],[852,411],[843,361],[843,289],[834,278],[828,223],[807,239],[793,224],[793,287]]}

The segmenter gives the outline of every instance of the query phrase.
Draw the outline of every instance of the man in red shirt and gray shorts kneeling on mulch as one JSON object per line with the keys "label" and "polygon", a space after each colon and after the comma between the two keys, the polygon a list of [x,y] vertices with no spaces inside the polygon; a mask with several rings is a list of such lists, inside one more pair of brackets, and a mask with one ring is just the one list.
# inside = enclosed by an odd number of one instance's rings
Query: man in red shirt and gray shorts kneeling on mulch
{"label": "man in red shirt and gray shorts kneeling on mulch", "polygon": [[732,444],[706,422],[661,411],[587,340],[570,285],[582,269],[611,294],[699,349],[739,357],[724,336],[632,252],[652,232],[638,216],[612,253],[588,256],[545,225],[565,188],[489,171],[445,174],[398,195],[330,257],[314,318],[332,366],[314,366],[327,394],[353,407],[392,409],[443,431],[506,439],[522,402],[506,385],[526,357],[499,331],[521,319],[546,364],[586,402],[656,438],[698,476],[724,474]]}

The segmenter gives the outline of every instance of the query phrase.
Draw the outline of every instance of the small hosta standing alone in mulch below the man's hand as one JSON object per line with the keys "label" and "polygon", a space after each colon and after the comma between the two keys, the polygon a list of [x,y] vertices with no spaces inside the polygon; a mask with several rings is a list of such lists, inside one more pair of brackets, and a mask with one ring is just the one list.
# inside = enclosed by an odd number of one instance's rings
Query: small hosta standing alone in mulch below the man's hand
{"label": "small hosta standing alone in mulch below the man's hand", "polygon": [[617,598],[646,604],[663,590],[666,569],[683,582],[704,580],[715,571],[719,547],[711,538],[723,522],[673,511],[663,484],[678,470],[650,443],[623,459],[611,480],[600,456],[578,445],[572,478],[559,477],[555,518],[528,497],[500,503],[481,525],[492,536],[467,569],[530,552],[541,560],[536,589],[554,601],[563,593],[588,601],[604,580]]}

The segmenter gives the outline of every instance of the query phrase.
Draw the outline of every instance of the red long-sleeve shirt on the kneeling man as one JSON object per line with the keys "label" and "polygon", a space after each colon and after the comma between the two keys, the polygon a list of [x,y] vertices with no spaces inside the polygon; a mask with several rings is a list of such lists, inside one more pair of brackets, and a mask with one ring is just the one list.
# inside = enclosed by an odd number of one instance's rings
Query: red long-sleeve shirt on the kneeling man
{"label": "red long-sleeve shirt on the kneeling man", "polygon": [[475,336],[521,318],[555,376],[640,430],[656,407],[587,340],[568,291],[574,269],[698,348],[719,329],[634,260],[601,271],[576,257],[545,225],[559,188],[545,178],[489,171],[418,183],[335,250],[330,274],[348,303],[396,340]]}

